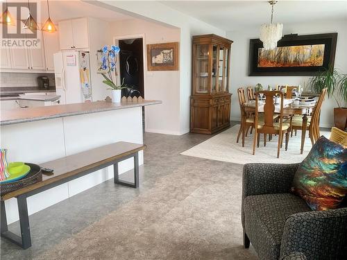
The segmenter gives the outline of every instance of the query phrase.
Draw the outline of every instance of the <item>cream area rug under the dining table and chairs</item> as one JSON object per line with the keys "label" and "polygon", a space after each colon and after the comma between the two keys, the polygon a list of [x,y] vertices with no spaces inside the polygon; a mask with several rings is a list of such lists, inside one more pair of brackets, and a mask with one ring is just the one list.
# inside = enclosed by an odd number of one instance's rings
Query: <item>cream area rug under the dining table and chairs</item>
{"label": "cream area rug under the dining table and chairs", "polygon": [[[300,154],[301,132],[298,135],[289,138],[288,150],[285,150],[285,144],[280,150],[280,158],[277,158],[278,137],[273,136],[271,141],[266,141],[264,147],[264,139],[260,137],[260,146],[255,148],[255,155],[252,155],[253,135],[249,135],[245,139],[245,145],[242,147],[242,139],[236,143],[239,125],[235,125],[228,130],[211,137],[210,139],[198,144],[189,150],[181,153],[181,155],[189,155],[205,159],[214,159],[222,162],[233,162],[235,164],[246,164],[250,162],[265,162],[290,164],[302,162],[306,155],[310,152],[312,144],[310,138],[305,138],[305,146],[303,154]],[[321,135],[330,137],[330,132],[322,132]]]}

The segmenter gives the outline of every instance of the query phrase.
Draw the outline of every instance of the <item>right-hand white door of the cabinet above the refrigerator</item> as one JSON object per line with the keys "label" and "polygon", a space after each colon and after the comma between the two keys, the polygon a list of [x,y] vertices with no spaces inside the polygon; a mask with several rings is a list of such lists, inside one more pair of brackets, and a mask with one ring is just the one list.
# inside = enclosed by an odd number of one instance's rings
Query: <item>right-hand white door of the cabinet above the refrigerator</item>
{"label": "right-hand white door of the cabinet above the refrigerator", "polygon": [[87,49],[89,47],[87,18],[73,19],[71,23],[74,49]]}

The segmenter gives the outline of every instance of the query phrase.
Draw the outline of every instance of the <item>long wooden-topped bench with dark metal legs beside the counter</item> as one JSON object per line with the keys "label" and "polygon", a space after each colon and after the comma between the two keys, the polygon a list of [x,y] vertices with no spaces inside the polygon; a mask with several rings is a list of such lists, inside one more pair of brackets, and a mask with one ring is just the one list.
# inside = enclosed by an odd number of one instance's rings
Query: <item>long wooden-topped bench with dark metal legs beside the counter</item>
{"label": "long wooden-topped bench with dark metal legs beside the counter", "polygon": [[[128,187],[139,187],[139,151],[144,150],[146,146],[143,144],[133,144],[124,141],[115,144],[109,144],[87,150],[75,155],[69,155],[60,159],[40,164],[42,168],[53,169],[52,175],[42,175],[42,181],[31,184],[22,189],[11,191],[1,196],[1,236],[10,240],[22,248],[31,247],[31,234],[28,218],[28,206],[26,198],[37,193],[51,189],[65,182],[69,182],[83,175],[87,175],[101,168],[105,168],[113,164],[115,183]],[[119,180],[118,163],[124,159],[134,158],[134,182],[126,182]],[[17,198],[19,210],[19,224],[21,236],[8,231],[6,220],[5,200]]]}

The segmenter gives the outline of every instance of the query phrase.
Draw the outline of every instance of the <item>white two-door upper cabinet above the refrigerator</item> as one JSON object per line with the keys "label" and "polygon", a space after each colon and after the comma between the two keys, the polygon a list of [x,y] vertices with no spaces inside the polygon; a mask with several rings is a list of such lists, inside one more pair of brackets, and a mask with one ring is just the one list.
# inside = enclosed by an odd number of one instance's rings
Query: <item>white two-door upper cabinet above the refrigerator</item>
{"label": "white two-door upper cabinet above the refrigerator", "polygon": [[87,18],[59,22],[60,49],[88,49]]}

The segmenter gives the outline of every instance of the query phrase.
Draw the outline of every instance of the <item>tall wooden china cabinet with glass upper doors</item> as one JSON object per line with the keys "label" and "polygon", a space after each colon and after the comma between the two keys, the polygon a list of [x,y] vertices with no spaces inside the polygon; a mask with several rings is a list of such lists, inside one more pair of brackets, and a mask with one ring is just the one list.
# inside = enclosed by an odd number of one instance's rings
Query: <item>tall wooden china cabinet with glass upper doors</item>
{"label": "tall wooden china cabinet with glass upper doors", "polygon": [[231,44],[213,34],[193,36],[191,132],[211,135],[230,126]]}

